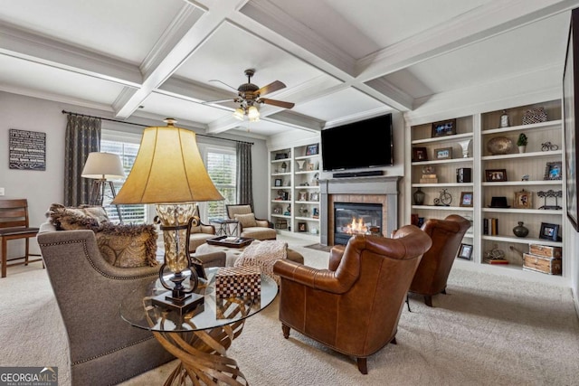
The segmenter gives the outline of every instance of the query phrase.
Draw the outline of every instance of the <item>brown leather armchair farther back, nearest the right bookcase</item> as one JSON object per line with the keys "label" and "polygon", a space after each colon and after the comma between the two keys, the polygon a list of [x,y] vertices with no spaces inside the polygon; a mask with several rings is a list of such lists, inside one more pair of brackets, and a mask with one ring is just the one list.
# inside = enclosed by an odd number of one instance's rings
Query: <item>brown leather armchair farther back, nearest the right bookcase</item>
{"label": "brown leather armchair farther back, nearest the right bookcase", "polygon": [[431,219],[422,225],[422,231],[432,239],[432,247],[422,256],[416,269],[410,292],[424,297],[426,306],[432,306],[432,295],[446,294],[446,281],[470,221],[456,214],[444,220]]}

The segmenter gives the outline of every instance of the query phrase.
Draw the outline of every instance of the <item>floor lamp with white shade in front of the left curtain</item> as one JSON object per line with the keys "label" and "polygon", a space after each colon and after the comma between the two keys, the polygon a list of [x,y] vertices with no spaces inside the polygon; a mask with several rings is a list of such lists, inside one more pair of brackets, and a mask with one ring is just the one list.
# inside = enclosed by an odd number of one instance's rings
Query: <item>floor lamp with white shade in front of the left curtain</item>
{"label": "floor lamp with white shade in front of the left curtain", "polygon": [[[92,186],[90,187],[89,204],[100,205],[105,196],[105,186],[109,185],[112,198],[117,196],[115,186],[110,180],[117,180],[125,177],[123,165],[120,162],[119,155],[111,153],[90,153],[87,162],[82,168],[81,176],[92,179]],[[117,213],[119,214],[119,221],[123,221],[120,215],[119,205],[115,205]]]}

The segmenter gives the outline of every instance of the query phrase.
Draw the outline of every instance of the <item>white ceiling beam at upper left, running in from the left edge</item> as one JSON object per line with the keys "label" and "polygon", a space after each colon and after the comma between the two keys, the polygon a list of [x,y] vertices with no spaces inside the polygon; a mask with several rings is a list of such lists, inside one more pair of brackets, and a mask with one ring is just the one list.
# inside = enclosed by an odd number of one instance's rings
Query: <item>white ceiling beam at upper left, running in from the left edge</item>
{"label": "white ceiling beam at upper left, running in from the left edge", "polygon": [[0,53],[132,87],[142,81],[135,65],[7,24],[0,25]]}

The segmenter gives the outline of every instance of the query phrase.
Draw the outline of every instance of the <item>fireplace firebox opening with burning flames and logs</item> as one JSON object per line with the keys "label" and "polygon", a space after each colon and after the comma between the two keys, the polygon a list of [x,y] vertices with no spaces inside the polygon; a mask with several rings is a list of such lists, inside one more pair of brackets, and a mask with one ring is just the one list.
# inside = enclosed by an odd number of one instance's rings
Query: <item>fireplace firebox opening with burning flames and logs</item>
{"label": "fireplace firebox opening with burning flames and logs", "polygon": [[334,244],[347,244],[352,235],[381,234],[382,204],[334,202]]}

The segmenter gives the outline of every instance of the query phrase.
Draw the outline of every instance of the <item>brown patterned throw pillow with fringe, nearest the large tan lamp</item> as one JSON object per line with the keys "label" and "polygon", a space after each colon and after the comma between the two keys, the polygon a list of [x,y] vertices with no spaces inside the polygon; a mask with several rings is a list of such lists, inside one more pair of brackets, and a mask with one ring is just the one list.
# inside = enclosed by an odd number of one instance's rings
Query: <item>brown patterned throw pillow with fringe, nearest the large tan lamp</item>
{"label": "brown patterned throw pillow with fringe, nearest the large tan lamp", "polygon": [[103,223],[95,230],[100,254],[122,268],[156,266],[157,230],[154,225]]}

